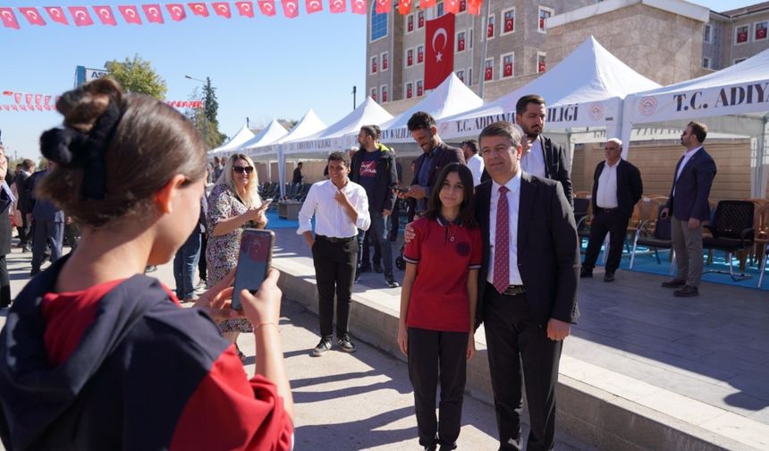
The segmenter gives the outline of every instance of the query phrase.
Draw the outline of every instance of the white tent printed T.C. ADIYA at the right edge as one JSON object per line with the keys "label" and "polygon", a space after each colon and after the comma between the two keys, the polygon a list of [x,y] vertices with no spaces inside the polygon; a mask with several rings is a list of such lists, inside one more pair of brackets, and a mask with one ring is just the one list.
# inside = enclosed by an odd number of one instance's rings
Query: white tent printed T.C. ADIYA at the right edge
{"label": "white tent printed T.C. ADIYA at the right edge", "polygon": [[[659,123],[681,129],[693,119],[705,119],[714,132],[754,137],[751,195],[764,197],[766,189],[769,118],[769,50],[721,71],[689,81],[628,96],[624,106],[622,140],[638,124]],[[645,125],[646,126],[646,125]],[[628,147],[624,153],[627,154]]]}

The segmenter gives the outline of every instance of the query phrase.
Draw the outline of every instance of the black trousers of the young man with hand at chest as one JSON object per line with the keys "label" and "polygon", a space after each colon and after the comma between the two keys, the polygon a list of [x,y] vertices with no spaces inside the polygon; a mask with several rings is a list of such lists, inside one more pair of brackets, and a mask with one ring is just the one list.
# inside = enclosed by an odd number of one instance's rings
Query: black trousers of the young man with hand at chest
{"label": "black trousers of the young man with hand at chest", "polygon": [[343,336],[350,326],[350,302],[355,267],[358,264],[358,240],[354,237],[332,243],[316,236],[312,246],[317,294],[319,297],[320,335],[331,338],[334,326],[336,293],[336,336]]}

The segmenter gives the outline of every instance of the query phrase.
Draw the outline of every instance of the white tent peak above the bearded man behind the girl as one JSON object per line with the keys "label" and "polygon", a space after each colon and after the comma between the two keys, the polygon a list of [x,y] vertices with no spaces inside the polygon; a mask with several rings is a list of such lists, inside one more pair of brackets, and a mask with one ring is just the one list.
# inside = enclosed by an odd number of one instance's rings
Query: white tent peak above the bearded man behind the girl
{"label": "white tent peak above the bearded man behind the girl", "polygon": [[439,121],[444,117],[458,115],[482,105],[483,100],[477,97],[476,93],[469,89],[455,73],[452,73],[417,105],[411,106],[401,115],[383,123],[381,125],[382,141],[412,142],[406,123],[409,122],[411,115],[418,111],[429,113],[435,121]]}

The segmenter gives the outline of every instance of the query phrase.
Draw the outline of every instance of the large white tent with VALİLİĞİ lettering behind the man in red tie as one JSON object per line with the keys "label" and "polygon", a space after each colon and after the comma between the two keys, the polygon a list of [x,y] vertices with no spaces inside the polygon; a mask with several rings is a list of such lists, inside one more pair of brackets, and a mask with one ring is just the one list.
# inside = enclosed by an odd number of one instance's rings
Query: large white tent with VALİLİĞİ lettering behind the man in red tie
{"label": "large white tent with VAL\u0130L\u0130\u011e\u0130 lettering behind the man in red tie", "polygon": [[518,99],[539,94],[547,105],[546,130],[606,127],[609,135],[617,136],[622,99],[659,86],[622,63],[591,36],[534,81],[485,106],[445,118],[439,130],[449,139],[477,136],[489,123],[515,122]]}

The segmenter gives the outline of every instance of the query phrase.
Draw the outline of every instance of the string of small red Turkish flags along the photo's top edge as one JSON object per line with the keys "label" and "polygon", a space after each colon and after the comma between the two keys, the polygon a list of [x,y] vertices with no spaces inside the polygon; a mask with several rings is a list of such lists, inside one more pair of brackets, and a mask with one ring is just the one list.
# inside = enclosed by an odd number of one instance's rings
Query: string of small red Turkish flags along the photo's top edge
{"label": "string of small red Turkish flags along the photo's top edge", "polygon": [[[328,11],[329,13],[353,14],[367,13],[369,2],[375,2],[376,13],[392,13],[394,11],[401,14],[408,14],[412,10],[415,0],[350,0],[350,8],[347,7],[348,0],[257,0],[256,2],[189,2],[189,3],[169,3],[169,4],[121,4],[117,6],[19,6],[0,7],[0,23],[4,28],[21,30],[22,25],[45,27],[49,24],[58,23],[61,25],[75,25],[76,27],[90,27],[101,24],[106,26],[118,25],[147,25],[165,24],[165,17],[171,21],[184,21],[189,17],[208,19],[232,19],[233,16],[253,18],[255,16],[254,4],[262,15],[272,17],[277,14],[276,3],[280,3],[283,8],[283,16],[293,19],[300,15],[300,4],[304,4],[305,13],[319,13]],[[446,0],[446,11],[452,13],[460,11],[461,0]],[[324,8],[323,4],[328,7]],[[467,0],[467,11],[471,14],[478,14],[481,10],[483,0]],[[436,0],[419,0],[419,9],[424,11],[427,8],[435,7]],[[164,16],[164,10],[168,16]],[[116,10],[116,13],[115,11]],[[191,14],[188,15],[188,10]],[[69,13],[70,18],[67,17]],[[213,12],[213,14],[211,13]],[[237,14],[233,14],[237,12]],[[18,16],[17,16],[18,13]],[[50,21],[46,21],[47,18]],[[26,21],[20,21],[20,17]],[[96,19],[96,20],[95,20]],[[122,19],[122,20],[119,20]],[[765,31],[763,31],[765,33]]]}

